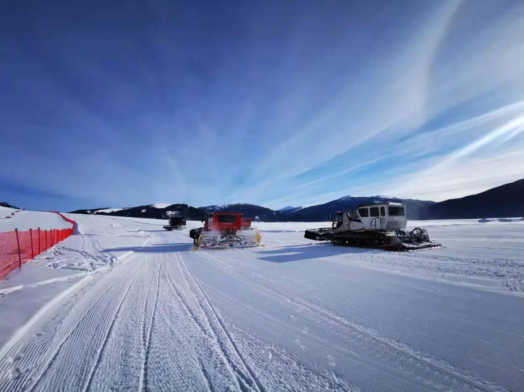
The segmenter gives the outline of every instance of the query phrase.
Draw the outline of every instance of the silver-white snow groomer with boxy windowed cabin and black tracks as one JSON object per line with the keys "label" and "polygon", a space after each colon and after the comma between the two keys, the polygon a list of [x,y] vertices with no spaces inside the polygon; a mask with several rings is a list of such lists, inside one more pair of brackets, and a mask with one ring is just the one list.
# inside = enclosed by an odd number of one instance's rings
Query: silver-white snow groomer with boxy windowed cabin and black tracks
{"label": "silver-white snow groomer with boxy windowed cabin and black tracks", "polygon": [[355,211],[335,213],[331,227],[306,230],[304,237],[331,241],[334,245],[413,251],[440,247],[431,241],[425,229],[406,230],[406,204],[374,203],[358,206]]}

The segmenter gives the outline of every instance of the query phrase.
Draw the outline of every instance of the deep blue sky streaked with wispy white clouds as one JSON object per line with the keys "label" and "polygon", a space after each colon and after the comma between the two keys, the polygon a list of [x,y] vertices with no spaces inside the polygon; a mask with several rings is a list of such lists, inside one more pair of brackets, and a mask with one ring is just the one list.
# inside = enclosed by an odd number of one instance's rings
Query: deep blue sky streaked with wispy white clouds
{"label": "deep blue sky streaked with wispy white clouds", "polygon": [[523,19],[518,1],[4,5],[0,201],[280,208],[518,180]]}

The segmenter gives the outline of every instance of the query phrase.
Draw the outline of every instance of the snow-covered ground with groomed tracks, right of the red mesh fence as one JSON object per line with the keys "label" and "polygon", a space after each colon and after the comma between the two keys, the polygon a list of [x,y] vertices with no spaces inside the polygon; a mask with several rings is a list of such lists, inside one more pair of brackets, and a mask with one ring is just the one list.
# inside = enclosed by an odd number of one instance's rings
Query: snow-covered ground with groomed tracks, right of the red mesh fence
{"label": "snow-covered ground with groomed tracks, right of the red mesh fence", "polygon": [[415,253],[193,251],[188,222],[72,215],[0,282],[0,390],[521,391],[524,224],[428,221]]}

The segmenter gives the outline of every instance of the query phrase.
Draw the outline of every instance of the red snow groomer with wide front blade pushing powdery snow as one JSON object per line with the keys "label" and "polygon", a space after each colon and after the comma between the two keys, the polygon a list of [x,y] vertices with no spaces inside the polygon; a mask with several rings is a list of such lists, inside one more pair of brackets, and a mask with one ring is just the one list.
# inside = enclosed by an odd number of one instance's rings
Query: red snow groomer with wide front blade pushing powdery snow
{"label": "red snow groomer with wide front blade pushing powdery snow", "polygon": [[189,237],[200,248],[248,248],[260,243],[260,233],[251,227],[250,218],[241,212],[213,212],[205,217],[204,227],[191,229]]}

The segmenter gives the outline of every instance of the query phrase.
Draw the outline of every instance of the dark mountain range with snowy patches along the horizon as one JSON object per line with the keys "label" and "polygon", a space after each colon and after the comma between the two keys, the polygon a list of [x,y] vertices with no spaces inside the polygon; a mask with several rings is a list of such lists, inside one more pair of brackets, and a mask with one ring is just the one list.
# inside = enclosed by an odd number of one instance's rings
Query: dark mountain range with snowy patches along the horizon
{"label": "dark mountain range with snowy patches along the horizon", "polygon": [[[508,200],[515,200],[508,203]],[[435,203],[431,200],[373,196],[342,196],[327,203],[309,207],[284,207],[273,210],[249,203],[233,203],[193,207],[188,204],[172,204],[157,208],[155,204],[130,208],[92,208],[71,211],[77,214],[96,214],[112,216],[129,216],[134,218],[166,219],[167,211],[179,211],[188,220],[202,220],[213,211],[242,212],[245,217],[255,221],[292,221],[313,222],[325,221],[336,211],[353,210],[358,205],[370,203],[401,202],[406,203],[407,217],[410,220],[423,219],[473,219],[473,218],[512,218],[524,216],[524,179],[500,185],[487,191],[461,198],[449,199]],[[167,203],[158,206],[167,205]],[[106,210],[106,211],[102,211]]]}

